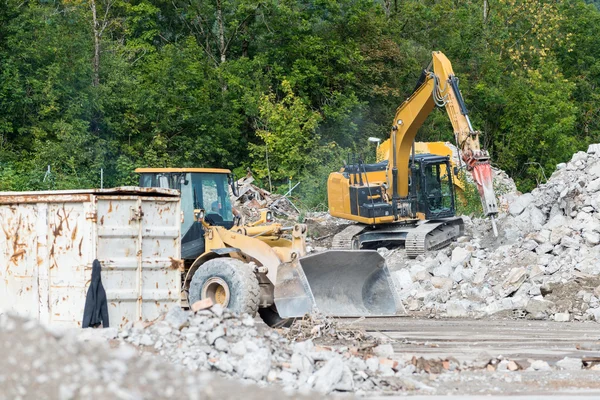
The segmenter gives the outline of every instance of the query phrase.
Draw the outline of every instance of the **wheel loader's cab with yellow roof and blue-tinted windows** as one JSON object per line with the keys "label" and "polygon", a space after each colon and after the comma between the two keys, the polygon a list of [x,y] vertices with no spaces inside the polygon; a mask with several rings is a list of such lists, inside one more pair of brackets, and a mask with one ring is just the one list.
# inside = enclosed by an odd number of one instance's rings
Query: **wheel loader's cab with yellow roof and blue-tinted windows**
{"label": "wheel loader's cab with yellow roof and blue-tinted windows", "polygon": [[217,168],[138,168],[141,187],[176,189],[181,193],[181,257],[195,260],[204,253],[204,229],[198,212],[209,225],[231,229],[234,224],[229,183],[231,172]]}

